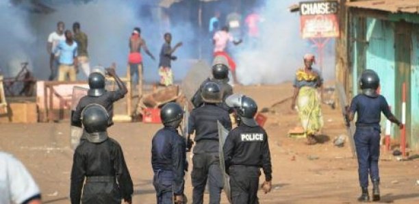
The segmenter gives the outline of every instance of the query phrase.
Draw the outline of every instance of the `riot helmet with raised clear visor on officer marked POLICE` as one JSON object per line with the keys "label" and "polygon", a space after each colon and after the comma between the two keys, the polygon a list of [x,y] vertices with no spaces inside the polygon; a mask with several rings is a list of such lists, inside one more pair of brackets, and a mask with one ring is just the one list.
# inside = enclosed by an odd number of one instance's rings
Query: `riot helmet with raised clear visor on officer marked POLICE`
{"label": "riot helmet with raised clear visor on officer marked POLICE", "polygon": [[236,110],[238,119],[244,123],[244,125],[255,127],[257,126],[255,115],[257,113],[257,104],[250,97],[246,97],[242,94],[232,94],[227,99],[225,103],[228,107]]}

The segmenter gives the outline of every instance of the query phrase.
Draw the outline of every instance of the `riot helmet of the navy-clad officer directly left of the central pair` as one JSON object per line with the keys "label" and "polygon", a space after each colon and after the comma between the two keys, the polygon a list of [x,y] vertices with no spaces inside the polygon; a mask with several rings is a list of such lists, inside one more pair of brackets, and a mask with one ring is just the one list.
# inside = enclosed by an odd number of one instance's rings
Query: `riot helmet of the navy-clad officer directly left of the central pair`
{"label": "riot helmet of the navy-clad officer directly left of the central pair", "polygon": [[160,118],[164,126],[176,129],[182,121],[183,110],[177,103],[167,103],[160,110]]}

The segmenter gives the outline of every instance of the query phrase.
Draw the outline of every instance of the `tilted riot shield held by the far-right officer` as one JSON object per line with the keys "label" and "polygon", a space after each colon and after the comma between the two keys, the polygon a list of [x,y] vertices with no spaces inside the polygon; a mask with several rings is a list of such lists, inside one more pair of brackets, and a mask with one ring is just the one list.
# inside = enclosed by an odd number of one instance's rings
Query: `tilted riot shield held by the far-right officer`
{"label": "tilted riot shield held by the far-right officer", "polygon": [[355,133],[355,126],[353,125],[353,122],[349,121],[346,118],[346,105],[348,105],[348,101],[346,99],[345,90],[342,84],[336,83],[336,90],[338,90],[338,96],[339,96],[339,102],[340,102],[340,108],[342,109],[342,116],[345,121],[346,125],[346,131],[348,132],[348,139],[351,143],[351,151],[352,156],[355,158],[357,157],[357,152],[355,151],[355,141],[353,140],[353,135]]}

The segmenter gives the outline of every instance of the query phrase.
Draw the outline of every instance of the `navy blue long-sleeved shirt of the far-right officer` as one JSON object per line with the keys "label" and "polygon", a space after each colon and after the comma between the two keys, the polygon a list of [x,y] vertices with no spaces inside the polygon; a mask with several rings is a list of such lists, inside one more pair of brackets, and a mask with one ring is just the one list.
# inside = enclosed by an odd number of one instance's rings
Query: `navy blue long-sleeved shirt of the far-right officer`
{"label": "navy blue long-sleeved shirt of the far-right officer", "polygon": [[389,118],[392,116],[385,98],[379,95],[377,98],[367,97],[365,94],[357,94],[351,102],[351,112],[357,112],[356,126],[380,127],[381,112]]}

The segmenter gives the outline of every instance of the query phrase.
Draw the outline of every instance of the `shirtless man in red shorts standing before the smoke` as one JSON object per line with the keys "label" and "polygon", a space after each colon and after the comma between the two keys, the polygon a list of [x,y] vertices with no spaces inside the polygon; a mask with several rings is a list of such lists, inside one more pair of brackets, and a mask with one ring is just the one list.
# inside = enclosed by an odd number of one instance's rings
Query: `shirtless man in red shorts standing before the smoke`
{"label": "shirtless man in red shorts standing before the smoke", "polygon": [[150,53],[149,48],[144,39],[141,38],[141,29],[139,27],[134,28],[131,37],[129,38],[129,71],[131,79],[136,77],[138,81],[138,97],[142,96],[142,56],[141,48],[144,49],[145,53],[150,56],[151,59],[155,60],[153,54]]}

